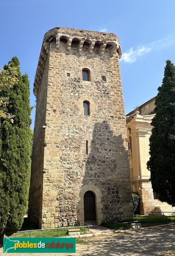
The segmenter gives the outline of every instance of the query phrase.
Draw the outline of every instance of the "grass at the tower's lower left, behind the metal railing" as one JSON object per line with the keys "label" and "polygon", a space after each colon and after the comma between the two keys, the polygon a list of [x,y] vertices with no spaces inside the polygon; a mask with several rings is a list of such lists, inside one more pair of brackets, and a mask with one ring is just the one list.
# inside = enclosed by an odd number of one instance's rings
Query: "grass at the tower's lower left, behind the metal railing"
{"label": "grass at the tower's lower left, behind the metal railing", "polygon": [[[27,218],[24,218],[24,222],[23,222],[23,225],[22,225],[22,228],[20,229],[20,231],[33,230],[33,229],[39,229],[39,228],[36,225],[32,224]],[[73,229],[73,227],[60,229],[59,237],[69,236],[66,234],[68,229]],[[76,229],[76,228],[74,228],[74,229]],[[84,228],[82,227],[79,229],[80,229],[80,234],[81,235],[84,234]],[[88,232],[88,229],[86,228],[86,234],[88,234],[88,233],[91,233],[91,232]],[[14,233],[10,237],[29,237],[29,236],[30,236],[30,232],[26,231],[26,232],[22,232],[22,233]],[[31,237],[58,237],[58,229],[51,229],[51,230],[43,229],[42,231],[32,231]]]}

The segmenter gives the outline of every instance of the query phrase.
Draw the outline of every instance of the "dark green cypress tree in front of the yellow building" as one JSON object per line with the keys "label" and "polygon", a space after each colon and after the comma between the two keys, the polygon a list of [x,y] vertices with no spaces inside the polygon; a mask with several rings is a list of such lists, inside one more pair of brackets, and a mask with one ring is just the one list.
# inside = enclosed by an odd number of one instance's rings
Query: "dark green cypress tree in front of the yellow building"
{"label": "dark green cypress tree in front of the yellow building", "polygon": [[152,188],[160,195],[160,201],[175,206],[175,67],[170,60],[166,61],[155,105],[147,167]]}

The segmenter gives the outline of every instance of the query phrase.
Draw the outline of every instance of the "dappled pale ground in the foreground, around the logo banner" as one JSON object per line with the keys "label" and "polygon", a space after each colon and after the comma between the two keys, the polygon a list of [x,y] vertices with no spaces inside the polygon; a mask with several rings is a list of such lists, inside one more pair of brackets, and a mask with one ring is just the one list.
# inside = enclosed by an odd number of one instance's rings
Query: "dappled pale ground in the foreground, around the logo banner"
{"label": "dappled pale ground in the foreground, around the logo banner", "polygon": [[76,253],[3,253],[0,256],[158,256],[175,250],[175,225],[118,234],[83,238],[90,244],[77,244]]}

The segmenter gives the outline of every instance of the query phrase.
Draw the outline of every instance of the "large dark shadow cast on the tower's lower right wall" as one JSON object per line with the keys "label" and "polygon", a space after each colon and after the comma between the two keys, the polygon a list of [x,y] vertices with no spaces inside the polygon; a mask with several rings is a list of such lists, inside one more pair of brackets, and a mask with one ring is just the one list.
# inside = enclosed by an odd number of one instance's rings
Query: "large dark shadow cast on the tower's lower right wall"
{"label": "large dark shadow cast on the tower's lower right wall", "polygon": [[[120,221],[124,217],[132,217],[128,150],[124,146],[124,136],[115,135],[112,126],[104,120],[94,125],[91,138],[86,154],[83,186],[89,184],[100,189],[103,221]],[[96,216],[100,218],[98,214]]]}

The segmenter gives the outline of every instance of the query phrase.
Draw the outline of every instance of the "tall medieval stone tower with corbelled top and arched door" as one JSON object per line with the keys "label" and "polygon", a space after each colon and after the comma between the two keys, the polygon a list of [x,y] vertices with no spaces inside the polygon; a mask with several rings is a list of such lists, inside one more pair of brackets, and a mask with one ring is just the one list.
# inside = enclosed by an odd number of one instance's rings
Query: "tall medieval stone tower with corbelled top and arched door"
{"label": "tall medieval stone tower with corbelled top and arched door", "polygon": [[28,211],[40,228],[133,216],[120,57],[112,33],[57,27],[44,36]]}

